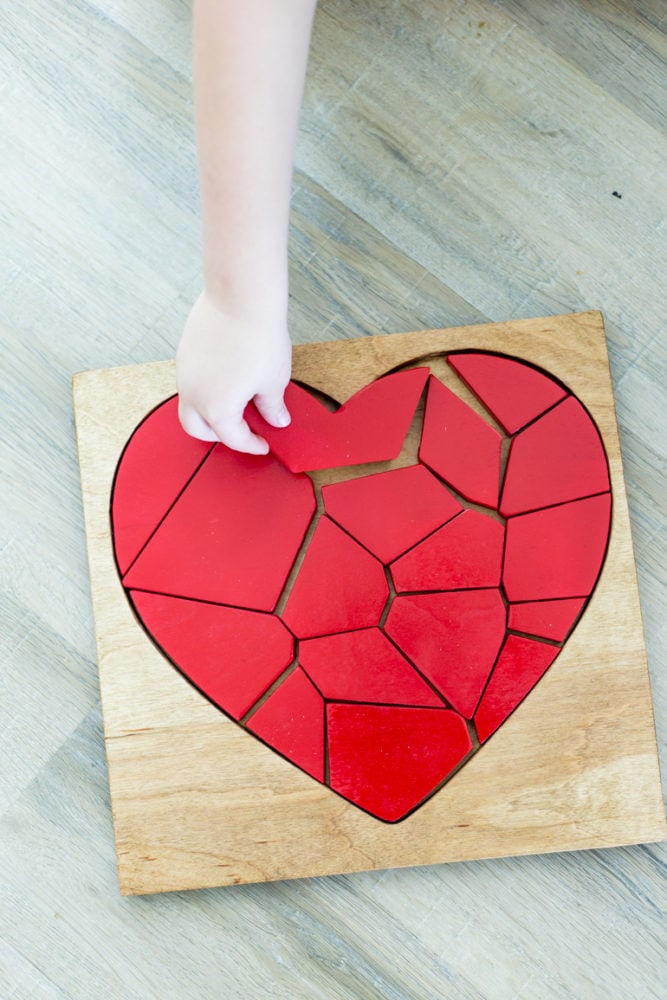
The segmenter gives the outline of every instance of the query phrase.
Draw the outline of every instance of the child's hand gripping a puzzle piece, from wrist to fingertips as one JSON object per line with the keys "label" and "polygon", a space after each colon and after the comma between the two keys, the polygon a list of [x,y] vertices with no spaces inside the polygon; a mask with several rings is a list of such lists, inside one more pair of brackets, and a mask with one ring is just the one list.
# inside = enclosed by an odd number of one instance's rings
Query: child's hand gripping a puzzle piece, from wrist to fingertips
{"label": "child's hand gripping a puzzle piece, from wrist to fingertips", "polygon": [[179,417],[203,441],[264,455],[269,446],[243,419],[252,399],[264,419],[285,427],[283,399],[292,347],[284,318],[227,311],[204,292],[194,304],[176,353]]}

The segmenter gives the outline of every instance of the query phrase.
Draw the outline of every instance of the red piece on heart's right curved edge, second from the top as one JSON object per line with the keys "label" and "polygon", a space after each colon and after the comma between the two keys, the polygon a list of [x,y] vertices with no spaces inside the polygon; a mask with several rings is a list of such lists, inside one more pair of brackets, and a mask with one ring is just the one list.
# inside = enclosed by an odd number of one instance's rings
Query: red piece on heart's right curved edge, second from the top
{"label": "red piece on heart's right curved edge, second from the top", "polygon": [[574,396],[512,441],[500,512],[505,517],[609,489],[598,430]]}

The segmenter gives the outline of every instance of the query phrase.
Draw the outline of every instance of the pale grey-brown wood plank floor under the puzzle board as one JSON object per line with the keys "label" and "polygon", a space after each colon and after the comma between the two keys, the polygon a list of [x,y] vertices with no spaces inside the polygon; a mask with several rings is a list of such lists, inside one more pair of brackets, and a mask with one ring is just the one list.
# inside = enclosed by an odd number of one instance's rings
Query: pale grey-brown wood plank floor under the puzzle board
{"label": "pale grey-brown wood plank floor under the puzzle board", "polygon": [[[0,996],[664,997],[665,845],[118,895],[69,380],[170,357],[198,290],[189,23],[0,7]],[[602,309],[663,754],[665,27],[322,0],[291,248],[297,342]]]}

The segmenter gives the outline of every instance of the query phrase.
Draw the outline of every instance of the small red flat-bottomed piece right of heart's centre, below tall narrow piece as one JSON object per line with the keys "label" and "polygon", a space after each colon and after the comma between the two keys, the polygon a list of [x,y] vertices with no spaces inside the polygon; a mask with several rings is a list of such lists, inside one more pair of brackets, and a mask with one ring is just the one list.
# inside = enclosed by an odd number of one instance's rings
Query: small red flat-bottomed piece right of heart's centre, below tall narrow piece
{"label": "small red flat-bottomed piece right of heart's centre, below tall narrow piece", "polygon": [[391,566],[398,593],[498,587],[505,528],[477,510],[465,510]]}

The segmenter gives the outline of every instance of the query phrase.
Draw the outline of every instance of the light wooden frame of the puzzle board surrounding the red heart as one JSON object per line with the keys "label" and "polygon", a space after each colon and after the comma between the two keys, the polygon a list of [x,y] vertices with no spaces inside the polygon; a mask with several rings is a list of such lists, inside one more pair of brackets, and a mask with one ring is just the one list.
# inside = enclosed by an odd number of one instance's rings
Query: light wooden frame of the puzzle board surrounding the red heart
{"label": "light wooden frame of the puzzle board surrounding the red heart", "polygon": [[[383,823],[215,708],[153,645],[113,558],[110,491],[171,362],[84,372],[74,404],[120,886],[139,894],[607,847],[665,836],[651,694],[602,317],[429,330],[295,348],[294,378],[343,402],[399,365],[498,351],[561,379],[604,440],[607,559],[554,665],[488,745],[406,819]],[[439,373],[440,374],[440,373]],[[442,376],[445,377],[444,374]],[[383,465],[406,464],[405,458]]]}

